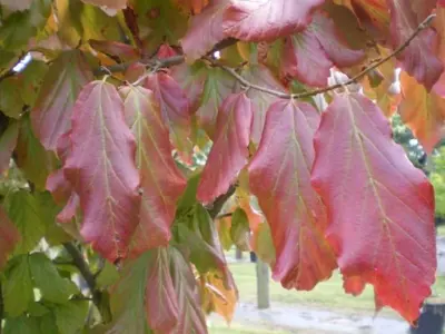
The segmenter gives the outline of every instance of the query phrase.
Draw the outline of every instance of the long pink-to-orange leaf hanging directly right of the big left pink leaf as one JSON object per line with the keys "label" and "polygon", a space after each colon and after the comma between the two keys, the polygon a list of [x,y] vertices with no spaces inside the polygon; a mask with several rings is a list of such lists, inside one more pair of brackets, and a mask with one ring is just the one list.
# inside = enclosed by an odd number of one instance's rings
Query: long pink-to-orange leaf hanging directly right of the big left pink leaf
{"label": "long pink-to-orange leaf hanging directly right of the big left pink leaf", "polygon": [[136,255],[168,245],[176,204],[187,180],[171,156],[169,131],[152,91],[126,87],[120,94],[125,97],[127,124],[136,137],[136,165],[141,178],[142,199],[132,245]]}

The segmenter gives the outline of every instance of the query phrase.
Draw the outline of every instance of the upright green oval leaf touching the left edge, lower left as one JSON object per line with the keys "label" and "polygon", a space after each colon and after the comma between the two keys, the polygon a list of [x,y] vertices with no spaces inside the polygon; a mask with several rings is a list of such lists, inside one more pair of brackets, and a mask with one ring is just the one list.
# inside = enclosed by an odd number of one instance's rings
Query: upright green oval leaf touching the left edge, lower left
{"label": "upright green oval leaf touching the left edge, lower left", "polygon": [[[32,278],[28,264],[28,255],[19,255],[6,273],[2,284],[4,311],[9,316],[19,316],[33,301]],[[28,333],[28,332],[11,332]]]}

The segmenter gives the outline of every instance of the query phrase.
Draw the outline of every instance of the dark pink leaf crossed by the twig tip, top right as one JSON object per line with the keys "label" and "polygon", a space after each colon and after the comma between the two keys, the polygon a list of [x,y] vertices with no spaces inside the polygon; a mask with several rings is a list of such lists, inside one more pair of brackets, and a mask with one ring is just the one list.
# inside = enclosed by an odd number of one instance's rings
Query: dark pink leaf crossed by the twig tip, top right
{"label": "dark pink leaf crossed by the twig tip, top right", "polygon": [[[425,19],[418,20],[411,3],[412,1],[408,0],[388,0],[392,17],[390,38],[394,49],[403,45]],[[444,66],[433,49],[436,39],[437,36],[433,29],[425,29],[397,55],[402,68],[422,82],[428,91],[444,71]]]}

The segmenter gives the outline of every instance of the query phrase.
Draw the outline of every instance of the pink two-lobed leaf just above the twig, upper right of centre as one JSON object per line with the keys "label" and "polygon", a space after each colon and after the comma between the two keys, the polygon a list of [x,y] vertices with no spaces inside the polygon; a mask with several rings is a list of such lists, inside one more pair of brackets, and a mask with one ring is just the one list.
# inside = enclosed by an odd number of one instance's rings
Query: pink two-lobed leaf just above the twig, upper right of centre
{"label": "pink two-lobed leaf just above the twig, upper right of centre", "polygon": [[303,32],[286,39],[284,56],[284,75],[295,76],[310,86],[325,87],[334,65],[350,67],[358,63],[365,53],[349,49],[342,41],[334,21],[318,12]]}

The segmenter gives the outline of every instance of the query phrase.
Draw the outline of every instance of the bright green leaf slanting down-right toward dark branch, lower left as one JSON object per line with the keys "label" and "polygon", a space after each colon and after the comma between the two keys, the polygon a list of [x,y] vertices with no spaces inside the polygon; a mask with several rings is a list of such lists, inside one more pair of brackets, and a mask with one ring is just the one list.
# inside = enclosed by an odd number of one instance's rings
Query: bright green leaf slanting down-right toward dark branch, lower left
{"label": "bright green leaf slanting down-right toward dark branch, lower left", "polygon": [[36,286],[43,297],[56,304],[65,304],[77,292],[73,282],[62,278],[55,265],[43,253],[29,256],[29,265]]}

